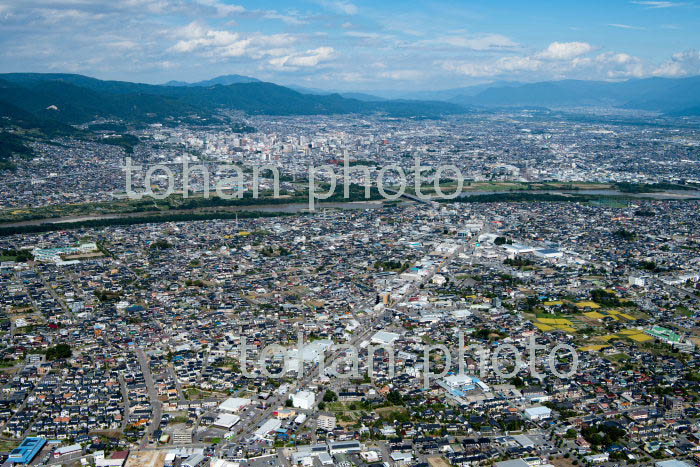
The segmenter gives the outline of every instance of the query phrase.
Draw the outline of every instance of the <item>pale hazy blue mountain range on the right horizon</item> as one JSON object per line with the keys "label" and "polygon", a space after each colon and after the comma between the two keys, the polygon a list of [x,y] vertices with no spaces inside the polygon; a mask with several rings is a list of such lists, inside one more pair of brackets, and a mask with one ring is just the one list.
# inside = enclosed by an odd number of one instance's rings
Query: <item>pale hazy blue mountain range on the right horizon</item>
{"label": "pale hazy blue mountain range on the right horizon", "polygon": [[[484,107],[611,106],[693,115],[700,106],[700,76],[647,78],[621,82],[562,80],[517,86],[489,87],[476,95],[460,95],[450,102]],[[688,109],[688,112],[684,109]]]}

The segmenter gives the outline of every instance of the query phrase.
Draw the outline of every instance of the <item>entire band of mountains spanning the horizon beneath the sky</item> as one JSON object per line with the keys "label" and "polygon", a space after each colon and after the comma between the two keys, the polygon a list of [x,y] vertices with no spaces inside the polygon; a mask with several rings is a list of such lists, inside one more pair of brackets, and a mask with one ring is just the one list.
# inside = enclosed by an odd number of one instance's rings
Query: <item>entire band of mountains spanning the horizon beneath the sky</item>
{"label": "entire band of mountains spanning the horizon beneath the sky", "polygon": [[241,75],[152,85],[77,74],[5,73],[0,74],[0,117],[25,125],[54,122],[49,126],[56,127],[101,117],[136,122],[207,119],[216,118],[222,110],[268,115],[380,112],[397,117],[437,117],[514,106],[607,106],[673,116],[700,115],[699,76],[623,82],[500,82],[383,96],[297,89]]}

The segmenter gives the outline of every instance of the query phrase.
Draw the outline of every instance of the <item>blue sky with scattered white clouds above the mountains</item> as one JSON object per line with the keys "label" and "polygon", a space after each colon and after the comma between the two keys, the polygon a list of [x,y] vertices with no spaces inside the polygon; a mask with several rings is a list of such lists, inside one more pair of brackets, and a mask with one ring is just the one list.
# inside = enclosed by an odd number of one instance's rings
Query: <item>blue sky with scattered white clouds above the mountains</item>
{"label": "blue sky with scattered white clouds above the mountains", "polygon": [[700,74],[700,0],[0,0],[0,71],[344,91]]}

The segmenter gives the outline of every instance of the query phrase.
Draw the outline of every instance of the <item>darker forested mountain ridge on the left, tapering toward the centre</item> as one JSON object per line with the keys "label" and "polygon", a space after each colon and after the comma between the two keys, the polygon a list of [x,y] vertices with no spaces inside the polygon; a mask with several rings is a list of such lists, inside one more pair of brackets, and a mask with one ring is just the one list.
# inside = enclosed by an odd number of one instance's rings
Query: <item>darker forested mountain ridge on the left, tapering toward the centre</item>
{"label": "darker forested mountain ridge on the left, tapering toward the centre", "polygon": [[66,124],[97,118],[134,122],[201,119],[212,118],[222,110],[268,115],[380,112],[399,117],[436,117],[466,111],[446,102],[363,101],[339,94],[302,94],[257,80],[228,85],[164,86],[57,73],[0,74],[0,103],[36,118]]}

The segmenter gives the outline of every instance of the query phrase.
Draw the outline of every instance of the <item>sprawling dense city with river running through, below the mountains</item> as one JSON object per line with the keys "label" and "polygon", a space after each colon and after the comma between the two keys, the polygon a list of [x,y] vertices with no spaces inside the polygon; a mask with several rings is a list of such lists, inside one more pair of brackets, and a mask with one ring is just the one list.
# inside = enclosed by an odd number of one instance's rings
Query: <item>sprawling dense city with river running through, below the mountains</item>
{"label": "sprawling dense city with river running through, below the mountains", "polygon": [[700,463],[697,121],[230,117],[2,172],[6,465]]}

